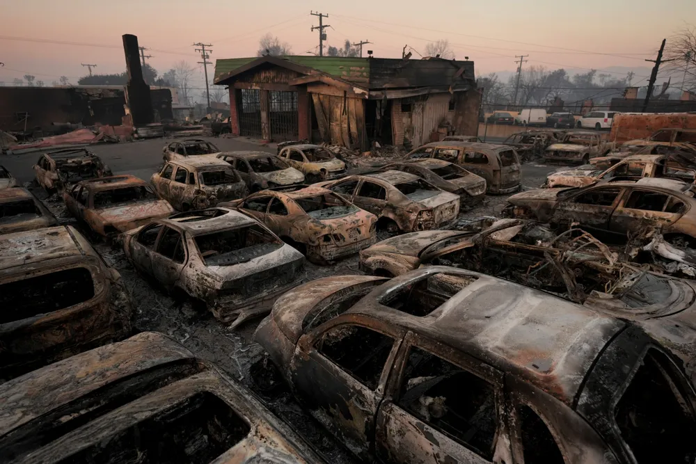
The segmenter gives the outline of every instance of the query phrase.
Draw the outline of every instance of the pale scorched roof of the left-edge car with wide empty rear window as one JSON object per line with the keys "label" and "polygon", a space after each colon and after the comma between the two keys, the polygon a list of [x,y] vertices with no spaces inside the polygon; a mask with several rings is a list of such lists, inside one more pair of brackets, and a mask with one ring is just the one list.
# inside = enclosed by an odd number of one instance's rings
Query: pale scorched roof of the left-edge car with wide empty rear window
{"label": "pale scorched roof of the left-edge car with wide empty rear window", "polygon": [[0,235],[0,271],[24,264],[84,255],[70,226],[45,227]]}

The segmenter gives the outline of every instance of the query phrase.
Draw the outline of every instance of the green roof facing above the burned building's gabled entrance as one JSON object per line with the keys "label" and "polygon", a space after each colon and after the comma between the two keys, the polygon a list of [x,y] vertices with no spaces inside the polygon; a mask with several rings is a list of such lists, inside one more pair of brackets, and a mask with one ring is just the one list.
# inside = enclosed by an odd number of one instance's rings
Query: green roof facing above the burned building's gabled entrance
{"label": "green roof facing above the burned building's gabled entrance", "polygon": [[[287,61],[292,61],[297,65],[312,67],[319,72],[324,72],[331,76],[340,77],[346,81],[364,82],[370,79],[370,58],[342,58],[339,56],[278,56]],[[253,58],[229,58],[215,61],[214,81],[228,72],[236,70],[257,60]]]}

